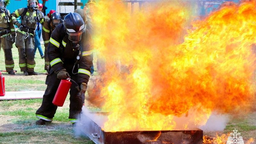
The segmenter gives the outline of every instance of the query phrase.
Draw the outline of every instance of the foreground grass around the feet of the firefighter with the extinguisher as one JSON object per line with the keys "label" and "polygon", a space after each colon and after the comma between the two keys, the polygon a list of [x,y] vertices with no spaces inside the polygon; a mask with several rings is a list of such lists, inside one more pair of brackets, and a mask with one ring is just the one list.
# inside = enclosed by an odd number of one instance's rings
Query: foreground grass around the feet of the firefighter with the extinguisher
{"label": "foreground grass around the feet of the firefighter with the extinguisher", "polygon": [[[69,95],[66,99],[69,103]],[[58,108],[53,123],[48,126],[35,124],[35,112],[42,103],[42,99],[4,100],[0,101],[0,115],[10,117],[6,126],[12,126],[17,132],[0,132],[0,143],[79,143],[93,144],[87,137],[76,136],[71,123],[68,121],[69,107],[64,104]],[[38,106],[39,105],[39,106]],[[5,126],[5,125],[2,125]]]}

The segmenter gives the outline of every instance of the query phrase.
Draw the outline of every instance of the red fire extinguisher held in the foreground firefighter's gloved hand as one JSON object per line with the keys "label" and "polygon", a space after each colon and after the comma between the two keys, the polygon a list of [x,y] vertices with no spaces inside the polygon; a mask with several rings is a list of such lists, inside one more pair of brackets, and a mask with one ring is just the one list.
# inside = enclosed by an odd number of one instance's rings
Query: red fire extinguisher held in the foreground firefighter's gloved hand
{"label": "red fire extinguisher held in the foreground firefighter's gloved hand", "polygon": [[63,104],[66,100],[66,97],[68,95],[70,86],[71,86],[70,78],[62,79],[60,81],[58,90],[53,98],[52,104],[57,105],[57,106],[63,106]]}

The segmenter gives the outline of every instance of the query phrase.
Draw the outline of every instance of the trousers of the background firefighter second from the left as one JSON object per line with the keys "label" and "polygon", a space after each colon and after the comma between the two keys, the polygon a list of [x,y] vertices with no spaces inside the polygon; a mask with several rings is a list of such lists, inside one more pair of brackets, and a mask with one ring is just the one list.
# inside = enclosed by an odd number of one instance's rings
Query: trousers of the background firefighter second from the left
{"label": "trousers of the background firefighter second from the left", "polygon": [[35,62],[35,43],[34,37],[28,36],[24,39],[24,35],[17,32],[15,46],[19,51],[19,66],[20,71],[28,70],[28,72],[34,72]]}

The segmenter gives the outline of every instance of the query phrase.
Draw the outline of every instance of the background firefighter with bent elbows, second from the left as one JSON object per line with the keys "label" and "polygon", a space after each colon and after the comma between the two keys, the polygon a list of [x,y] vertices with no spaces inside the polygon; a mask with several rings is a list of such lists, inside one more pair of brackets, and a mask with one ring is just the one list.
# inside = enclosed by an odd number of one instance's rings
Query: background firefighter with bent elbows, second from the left
{"label": "background firefighter with bent elbows, second from the left", "polygon": [[[28,0],[28,8],[20,8],[15,10],[12,14],[12,23],[17,25],[19,29],[16,31],[16,43],[15,46],[19,51],[19,66],[20,71],[23,71],[25,76],[28,75],[38,75],[34,68],[36,66],[35,62],[35,29],[36,23],[41,24],[44,21],[49,21],[50,18],[43,16],[41,11],[37,10],[37,1]],[[17,21],[16,18],[21,17],[21,23]]]}

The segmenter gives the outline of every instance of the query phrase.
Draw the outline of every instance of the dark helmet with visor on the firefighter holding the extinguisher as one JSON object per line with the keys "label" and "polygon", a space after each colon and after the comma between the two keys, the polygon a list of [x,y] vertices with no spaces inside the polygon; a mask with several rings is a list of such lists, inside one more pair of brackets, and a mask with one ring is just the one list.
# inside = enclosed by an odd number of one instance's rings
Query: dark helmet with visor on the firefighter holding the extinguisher
{"label": "dark helmet with visor on the firefighter holding the extinguisher", "polygon": [[78,42],[82,39],[86,25],[83,18],[76,12],[70,12],[64,18],[65,31],[68,33],[68,39]]}

